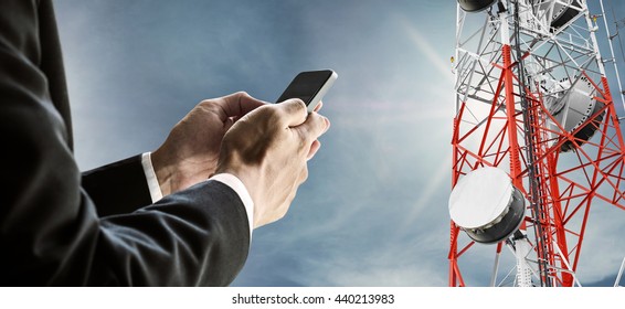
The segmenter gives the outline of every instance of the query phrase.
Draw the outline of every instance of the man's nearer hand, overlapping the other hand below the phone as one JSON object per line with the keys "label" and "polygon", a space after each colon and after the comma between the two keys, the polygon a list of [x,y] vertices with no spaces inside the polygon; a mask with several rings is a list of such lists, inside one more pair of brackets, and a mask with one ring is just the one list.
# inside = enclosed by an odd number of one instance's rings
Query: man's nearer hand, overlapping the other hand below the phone
{"label": "man's nearer hand, overlapping the other hand below the phone", "polygon": [[254,201],[254,227],[282,219],[307,179],[307,161],[329,120],[308,115],[299,99],[265,105],[239,119],[225,134],[216,173],[231,173]]}

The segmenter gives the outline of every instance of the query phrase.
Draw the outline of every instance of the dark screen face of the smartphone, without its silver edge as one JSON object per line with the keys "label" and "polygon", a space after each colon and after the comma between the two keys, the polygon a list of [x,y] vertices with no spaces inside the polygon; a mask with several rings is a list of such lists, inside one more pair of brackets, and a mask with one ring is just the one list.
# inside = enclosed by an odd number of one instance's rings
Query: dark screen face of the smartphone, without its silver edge
{"label": "dark screen face of the smartphone, without its silver edge", "polygon": [[277,103],[289,98],[299,98],[308,106],[331,75],[331,71],[310,71],[297,74],[277,99]]}

